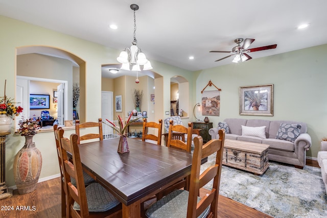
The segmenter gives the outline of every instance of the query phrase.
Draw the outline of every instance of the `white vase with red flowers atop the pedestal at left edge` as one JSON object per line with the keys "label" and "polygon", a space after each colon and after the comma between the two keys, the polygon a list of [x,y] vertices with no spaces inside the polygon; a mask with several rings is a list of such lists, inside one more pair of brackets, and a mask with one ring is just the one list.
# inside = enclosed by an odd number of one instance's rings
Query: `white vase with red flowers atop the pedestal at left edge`
{"label": "white vase with red flowers atop the pedestal at left edge", "polygon": [[16,103],[13,99],[7,97],[6,83],[7,80],[5,80],[5,94],[0,100],[0,133],[10,132],[12,116],[18,116],[23,110],[20,106],[14,105]]}

